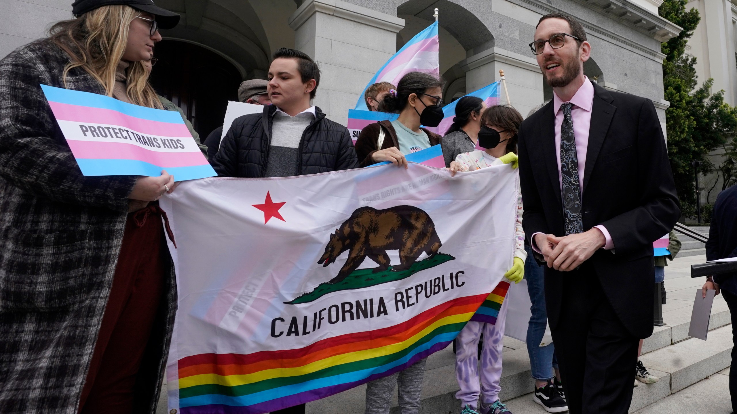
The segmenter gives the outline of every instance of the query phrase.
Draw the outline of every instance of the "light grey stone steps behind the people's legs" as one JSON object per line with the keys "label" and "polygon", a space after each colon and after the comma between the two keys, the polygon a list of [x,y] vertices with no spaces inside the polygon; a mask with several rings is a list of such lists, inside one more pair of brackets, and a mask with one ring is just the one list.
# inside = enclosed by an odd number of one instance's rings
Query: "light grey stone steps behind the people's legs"
{"label": "light grey stone steps behind the people's legs", "polygon": [[[691,304],[696,288],[703,284],[702,278],[688,277],[688,268],[691,264],[704,261],[704,256],[680,259],[671,262],[668,266],[670,269],[666,270],[668,304],[663,305],[663,319],[667,325],[654,327],[652,336],[643,343],[641,357],[650,372],[660,377],[660,382],[635,387],[630,413],[730,366],[732,327],[729,309],[721,295],[714,300],[708,341],[688,337]],[[504,339],[500,399],[508,404],[514,414],[545,413],[539,405],[531,401],[534,380],[530,375],[526,345],[509,337]],[[458,382],[455,379],[454,364],[450,347],[436,352],[427,360],[420,413],[457,414],[460,411],[460,403],[455,399]],[[362,385],[313,401],[307,404],[307,414],[363,413],[365,392],[366,385]],[[396,391],[391,414],[399,414]]]}

